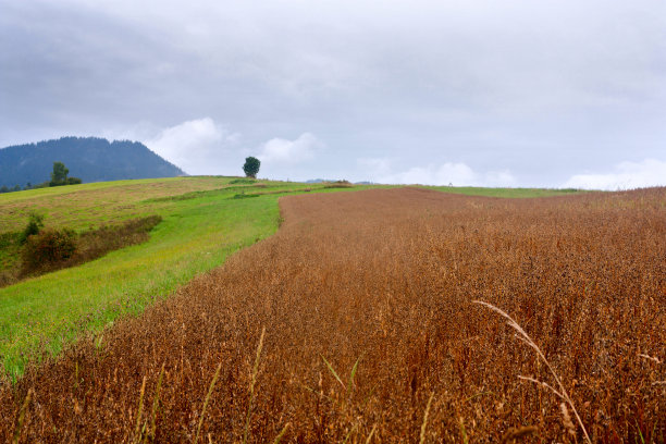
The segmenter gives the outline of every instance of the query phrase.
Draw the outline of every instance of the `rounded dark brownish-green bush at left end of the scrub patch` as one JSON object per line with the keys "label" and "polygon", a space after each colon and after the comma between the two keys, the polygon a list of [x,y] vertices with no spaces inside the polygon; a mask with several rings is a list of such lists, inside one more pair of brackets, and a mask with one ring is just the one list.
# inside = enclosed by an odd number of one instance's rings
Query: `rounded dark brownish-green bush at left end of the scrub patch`
{"label": "rounded dark brownish-green bush at left end of the scrub patch", "polygon": [[22,251],[23,273],[59,268],[76,252],[76,233],[46,229],[27,238]]}

